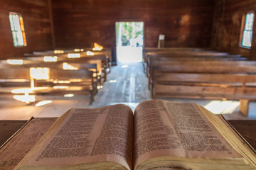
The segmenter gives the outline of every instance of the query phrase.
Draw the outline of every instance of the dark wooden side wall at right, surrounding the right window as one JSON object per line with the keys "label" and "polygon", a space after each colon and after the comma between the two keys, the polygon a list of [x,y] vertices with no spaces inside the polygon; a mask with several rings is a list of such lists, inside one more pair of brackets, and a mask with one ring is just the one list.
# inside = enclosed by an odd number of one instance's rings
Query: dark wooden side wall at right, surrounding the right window
{"label": "dark wooden side wall at right, surrounding the right window", "polygon": [[256,60],[256,37],[252,49],[240,47],[242,15],[255,11],[255,0],[216,0],[212,46],[216,50],[252,57]]}

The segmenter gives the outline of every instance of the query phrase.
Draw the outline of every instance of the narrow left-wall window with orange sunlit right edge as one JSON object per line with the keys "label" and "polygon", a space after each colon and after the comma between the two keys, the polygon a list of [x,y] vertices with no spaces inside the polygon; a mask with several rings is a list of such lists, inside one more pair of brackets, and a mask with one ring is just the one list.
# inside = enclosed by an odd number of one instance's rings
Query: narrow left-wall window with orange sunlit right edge
{"label": "narrow left-wall window with orange sunlit right edge", "polygon": [[11,24],[11,34],[14,40],[14,46],[26,46],[25,29],[21,14],[9,13],[9,20]]}

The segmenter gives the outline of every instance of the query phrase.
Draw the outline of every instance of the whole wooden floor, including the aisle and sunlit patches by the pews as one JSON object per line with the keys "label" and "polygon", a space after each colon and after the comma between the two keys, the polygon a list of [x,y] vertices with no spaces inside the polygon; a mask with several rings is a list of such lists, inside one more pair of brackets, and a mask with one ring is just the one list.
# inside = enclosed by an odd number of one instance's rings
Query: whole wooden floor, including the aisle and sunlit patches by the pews
{"label": "whole wooden floor, including the aisle and sunlit patches by the pews", "polygon": [[[43,100],[51,100],[44,106],[36,107],[21,103],[12,96],[0,96],[0,120],[28,120],[33,117],[58,117],[68,111],[69,108],[98,108],[101,106],[124,103],[131,108],[135,108],[138,103],[150,100],[151,96],[147,89],[147,78],[142,69],[142,63],[118,64],[112,67],[107,81],[103,84],[95,96],[95,101],[89,105],[89,96],[74,96],[64,98],[63,96],[41,97]],[[201,106],[213,103],[210,100],[191,100],[191,99],[169,99],[169,101],[196,102]],[[214,101],[221,103],[221,101]],[[231,102],[232,103],[232,102]],[[234,103],[234,102],[233,102]],[[220,105],[213,106],[219,108]],[[227,112],[227,109],[225,109]],[[219,112],[219,111],[218,111]],[[221,113],[221,112],[219,112]],[[256,102],[250,103],[249,117],[246,118],[238,112],[229,111],[225,118],[233,120],[256,119]]]}

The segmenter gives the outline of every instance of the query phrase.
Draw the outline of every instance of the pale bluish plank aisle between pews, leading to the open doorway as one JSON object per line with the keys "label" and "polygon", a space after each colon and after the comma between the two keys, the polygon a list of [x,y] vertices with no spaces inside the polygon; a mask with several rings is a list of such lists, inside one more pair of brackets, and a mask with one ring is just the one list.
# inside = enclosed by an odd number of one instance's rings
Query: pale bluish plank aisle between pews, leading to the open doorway
{"label": "pale bluish plank aisle between pews, leading to the open doorway", "polygon": [[147,88],[148,79],[143,72],[142,63],[119,64],[113,66],[107,81],[95,96],[90,108],[98,108],[115,103],[125,103],[131,107],[150,100]]}

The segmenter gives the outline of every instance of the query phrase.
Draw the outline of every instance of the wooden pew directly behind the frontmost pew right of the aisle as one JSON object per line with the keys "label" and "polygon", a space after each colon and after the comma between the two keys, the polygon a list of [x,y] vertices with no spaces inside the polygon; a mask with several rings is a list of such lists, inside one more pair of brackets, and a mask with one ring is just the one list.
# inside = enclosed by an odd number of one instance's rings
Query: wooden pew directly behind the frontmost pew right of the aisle
{"label": "wooden pew directly behind the frontmost pew right of the aisle", "polygon": [[239,60],[169,60],[154,61],[149,67],[149,89],[155,72],[255,73],[256,62]]}

